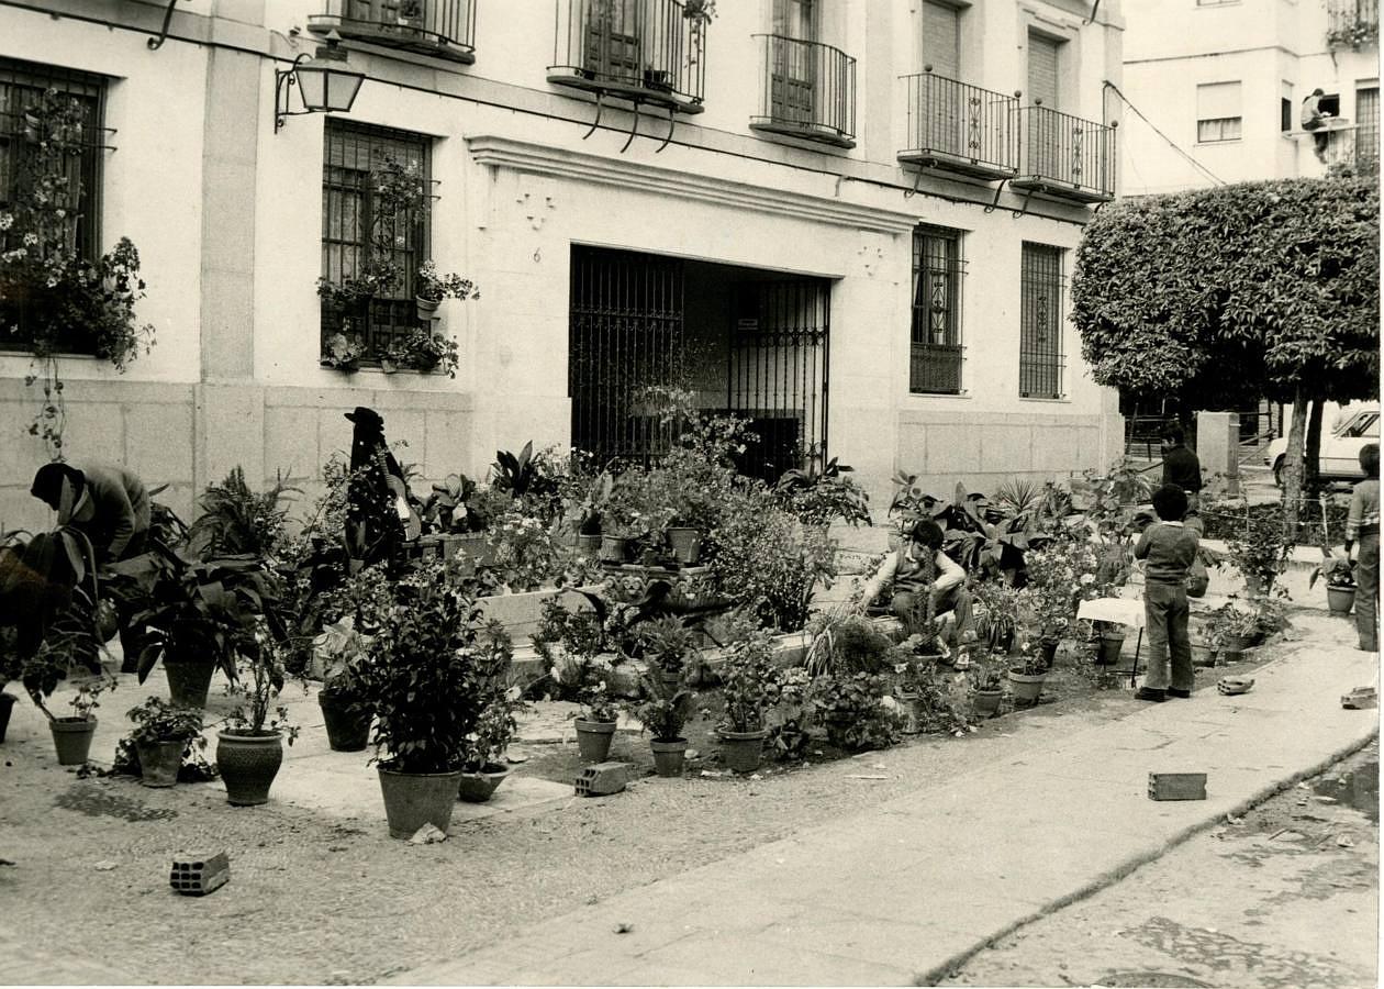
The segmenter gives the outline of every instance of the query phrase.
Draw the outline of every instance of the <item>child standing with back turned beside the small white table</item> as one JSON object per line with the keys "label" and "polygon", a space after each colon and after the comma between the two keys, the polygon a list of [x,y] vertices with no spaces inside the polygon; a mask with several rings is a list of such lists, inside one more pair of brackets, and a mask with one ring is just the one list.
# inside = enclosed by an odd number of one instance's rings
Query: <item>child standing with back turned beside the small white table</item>
{"label": "child standing with back turned beside the small white table", "polygon": [[[1139,701],[1192,697],[1192,637],[1187,634],[1187,571],[1197,557],[1197,533],[1182,524],[1187,496],[1176,485],[1164,485],[1153,496],[1158,521],[1133,547],[1143,571],[1143,615],[1149,632],[1149,670],[1135,693]],[[1169,683],[1168,657],[1172,657]]]}

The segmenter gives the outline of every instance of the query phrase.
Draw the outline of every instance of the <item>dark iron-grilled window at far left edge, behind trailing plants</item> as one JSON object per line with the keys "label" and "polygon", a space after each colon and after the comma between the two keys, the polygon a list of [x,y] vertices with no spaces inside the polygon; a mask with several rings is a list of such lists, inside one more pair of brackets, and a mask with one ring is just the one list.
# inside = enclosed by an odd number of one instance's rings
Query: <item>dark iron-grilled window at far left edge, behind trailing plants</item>
{"label": "dark iron-grilled window at far left edge, behind trailing plants", "polygon": [[[18,58],[0,58],[0,215],[10,220],[8,230],[0,230],[0,251],[24,245],[26,233],[17,205],[46,179],[55,179],[51,190],[54,204],[62,211],[65,231],[51,238],[50,247],[75,251],[83,260],[94,260],[100,253],[101,151],[104,145],[105,79],[87,72],[64,69]],[[68,157],[57,168],[51,154],[44,163],[44,143],[53,137],[44,133],[50,122],[58,119],[51,111],[75,122],[75,143],[80,151]],[[61,125],[58,125],[61,126]],[[69,136],[71,140],[71,136]],[[40,175],[44,173],[44,175]],[[53,211],[48,216],[55,216]],[[61,229],[60,229],[61,230]],[[7,326],[18,326],[18,332],[6,332],[0,348],[28,349],[25,320],[0,313]],[[61,349],[83,352],[90,345],[78,338],[64,338]]]}

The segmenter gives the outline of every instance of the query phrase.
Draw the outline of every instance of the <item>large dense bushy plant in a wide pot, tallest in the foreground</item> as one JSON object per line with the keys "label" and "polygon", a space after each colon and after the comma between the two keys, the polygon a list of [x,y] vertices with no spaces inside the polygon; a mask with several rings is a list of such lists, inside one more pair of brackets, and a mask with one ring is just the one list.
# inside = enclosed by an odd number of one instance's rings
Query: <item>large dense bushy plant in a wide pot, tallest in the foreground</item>
{"label": "large dense bushy plant in a wide pot, tallest in the foreground", "polygon": [[461,562],[430,558],[388,590],[367,647],[365,694],[389,834],[446,831],[457,803],[466,736],[489,702],[493,651],[484,612],[466,594]]}

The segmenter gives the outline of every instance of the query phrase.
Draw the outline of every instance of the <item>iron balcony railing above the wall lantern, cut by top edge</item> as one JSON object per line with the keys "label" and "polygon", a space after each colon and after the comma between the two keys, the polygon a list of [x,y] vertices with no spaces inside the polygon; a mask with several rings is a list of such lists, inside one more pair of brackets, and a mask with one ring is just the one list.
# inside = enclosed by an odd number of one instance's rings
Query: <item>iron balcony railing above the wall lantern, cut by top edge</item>
{"label": "iron balcony railing above the wall lantern, cut by top edge", "polygon": [[476,0],[325,0],[307,18],[314,35],[417,51],[469,65],[476,61]]}

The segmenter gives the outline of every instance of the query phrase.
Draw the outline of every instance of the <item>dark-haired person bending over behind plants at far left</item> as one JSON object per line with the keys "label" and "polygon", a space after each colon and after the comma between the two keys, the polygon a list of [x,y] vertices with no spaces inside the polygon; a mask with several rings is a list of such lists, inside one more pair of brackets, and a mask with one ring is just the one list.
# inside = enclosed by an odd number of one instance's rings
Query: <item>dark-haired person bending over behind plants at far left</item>
{"label": "dark-haired person bending over behind plants at far left", "polygon": [[[44,464],[33,475],[29,493],[58,513],[58,525],[76,529],[91,542],[95,562],[112,564],[144,553],[149,535],[149,494],[140,476],[125,467],[101,461]],[[143,629],[133,618],[134,601],[113,594],[120,633],[122,669],[133,672],[144,645]],[[95,647],[82,657],[97,668]]]}

